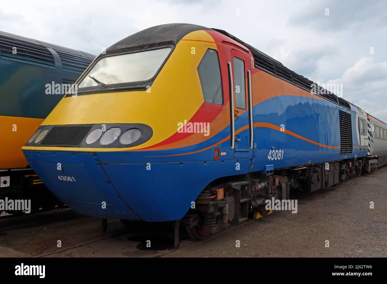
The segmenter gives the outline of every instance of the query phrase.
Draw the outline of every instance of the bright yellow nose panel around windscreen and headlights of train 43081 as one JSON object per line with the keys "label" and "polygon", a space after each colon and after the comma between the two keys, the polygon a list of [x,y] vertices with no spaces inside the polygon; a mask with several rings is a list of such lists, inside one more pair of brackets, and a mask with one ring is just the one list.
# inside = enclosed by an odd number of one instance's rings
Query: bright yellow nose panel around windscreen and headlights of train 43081
{"label": "bright yellow nose panel around windscreen and headlights of train 43081", "polygon": [[[110,87],[106,90],[102,87],[98,93],[94,90],[84,94],[81,83],[77,95],[64,97],[42,126],[146,124],[153,129],[152,137],[141,145],[130,145],[130,148],[120,150],[137,150],[161,143],[178,131],[178,122],[190,121],[204,102],[197,66],[208,47],[216,50],[214,39],[207,32],[190,32],[176,47],[166,48],[168,60],[153,82],[142,84],[142,90],[138,90],[138,86],[126,91]],[[24,149],[37,148],[27,144]],[[45,150],[74,151],[74,148],[55,145],[45,147]],[[101,150],[117,149],[77,148],[77,151]]]}

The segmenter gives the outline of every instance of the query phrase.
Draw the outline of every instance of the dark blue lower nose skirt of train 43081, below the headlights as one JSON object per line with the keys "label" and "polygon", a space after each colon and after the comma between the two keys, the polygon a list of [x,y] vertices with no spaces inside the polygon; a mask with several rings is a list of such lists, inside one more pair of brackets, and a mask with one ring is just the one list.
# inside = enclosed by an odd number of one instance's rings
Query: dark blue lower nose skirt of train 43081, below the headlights
{"label": "dark blue lower nose skirt of train 43081, below the headlights", "polygon": [[[181,219],[214,176],[247,172],[250,159],[208,162],[115,163],[98,153],[24,153],[46,186],[75,211],[100,218]],[[114,156],[116,152],[104,152]],[[61,164],[61,170],[57,164]],[[103,208],[106,202],[106,208]]]}

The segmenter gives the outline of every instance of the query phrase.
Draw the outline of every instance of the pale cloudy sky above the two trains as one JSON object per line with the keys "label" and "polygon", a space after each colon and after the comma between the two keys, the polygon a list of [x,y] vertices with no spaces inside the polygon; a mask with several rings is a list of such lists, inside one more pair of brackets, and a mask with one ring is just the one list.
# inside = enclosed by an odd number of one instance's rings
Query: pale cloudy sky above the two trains
{"label": "pale cloudy sky above the two trains", "polygon": [[[147,27],[223,29],[387,122],[387,1],[2,1],[0,30],[93,54]],[[340,85],[339,85],[340,86]]]}

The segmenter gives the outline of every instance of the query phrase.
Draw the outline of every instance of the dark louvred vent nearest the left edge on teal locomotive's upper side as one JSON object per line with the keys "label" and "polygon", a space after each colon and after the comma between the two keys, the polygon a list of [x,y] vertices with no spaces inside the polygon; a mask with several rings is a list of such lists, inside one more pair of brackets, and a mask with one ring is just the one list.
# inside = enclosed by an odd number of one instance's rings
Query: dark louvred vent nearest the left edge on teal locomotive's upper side
{"label": "dark louvred vent nearest the left edge on teal locomotive's upper side", "polygon": [[1,58],[55,68],[52,53],[45,46],[0,36]]}

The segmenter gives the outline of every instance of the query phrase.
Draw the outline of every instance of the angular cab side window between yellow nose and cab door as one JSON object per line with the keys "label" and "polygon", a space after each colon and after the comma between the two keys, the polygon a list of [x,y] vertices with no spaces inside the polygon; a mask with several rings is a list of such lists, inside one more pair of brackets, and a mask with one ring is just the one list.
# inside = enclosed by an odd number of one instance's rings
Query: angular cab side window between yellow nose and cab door
{"label": "angular cab side window between yellow nose and cab door", "polygon": [[204,101],[210,104],[223,105],[222,79],[219,58],[216,50],[207,49],[197,67]]}

